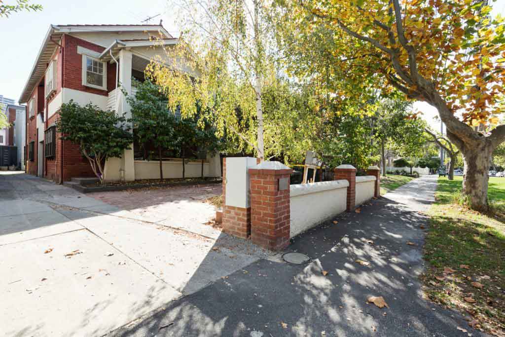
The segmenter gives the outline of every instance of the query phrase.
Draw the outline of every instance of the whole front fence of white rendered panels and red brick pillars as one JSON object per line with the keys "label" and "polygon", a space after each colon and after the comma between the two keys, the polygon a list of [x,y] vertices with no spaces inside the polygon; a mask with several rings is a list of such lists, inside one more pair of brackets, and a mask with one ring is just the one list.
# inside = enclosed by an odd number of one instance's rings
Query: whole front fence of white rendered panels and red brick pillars
{"label": "whole front fence of white rendered panels and red brick pillars", "polygon": [[223,161],[223,231],[270,250],[344,211],[379,196],[378,167],[356,177],[356,168],[340,165],[337,180],[290,185],[292,169],[256,158]]}

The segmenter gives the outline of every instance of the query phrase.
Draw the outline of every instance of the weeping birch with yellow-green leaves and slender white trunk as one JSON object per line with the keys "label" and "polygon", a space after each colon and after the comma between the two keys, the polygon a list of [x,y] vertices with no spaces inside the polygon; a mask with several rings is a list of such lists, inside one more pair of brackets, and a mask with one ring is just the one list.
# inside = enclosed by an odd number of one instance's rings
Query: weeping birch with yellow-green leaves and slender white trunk
{"label": "weeping birch with yellow-green leaves and slender white trunk", "polygon": [[[179,0],[182,38],[148,71],[183,116],[203,108],[218,136],[265,159],[263,93],[280,85],[272,0]],[[188,69],[194,70],[193,72]],[[231,132],[225,132],[225,130]]]}

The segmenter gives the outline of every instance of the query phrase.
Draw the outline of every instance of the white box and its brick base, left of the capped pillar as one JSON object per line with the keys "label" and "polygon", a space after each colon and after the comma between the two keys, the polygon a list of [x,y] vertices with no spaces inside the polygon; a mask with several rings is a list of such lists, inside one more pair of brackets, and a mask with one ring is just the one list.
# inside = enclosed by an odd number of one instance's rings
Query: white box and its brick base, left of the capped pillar
{"label": "white box and its brick base, left of the capped pillar", "polygon": [[257,163],[256,158],[223,158],[223,231],[244,239],[251,232],[247,169]]}

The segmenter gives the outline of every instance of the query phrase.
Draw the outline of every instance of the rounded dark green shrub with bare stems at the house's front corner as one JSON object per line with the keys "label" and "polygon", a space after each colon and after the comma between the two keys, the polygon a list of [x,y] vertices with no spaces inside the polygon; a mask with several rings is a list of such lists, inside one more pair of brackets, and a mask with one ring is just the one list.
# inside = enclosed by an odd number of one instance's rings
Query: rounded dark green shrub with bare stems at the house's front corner
{"label": "rounded dark green shrub with bare stems at the house's front corner", "polygon": [[124,116],[101,110],[89,103],[80,106],[72,100],[62,104],[56,123],[62,139],[79,146],[95,175],[104,182],[103,165],[108,158],[121,157],[129,149],[132,136]]}

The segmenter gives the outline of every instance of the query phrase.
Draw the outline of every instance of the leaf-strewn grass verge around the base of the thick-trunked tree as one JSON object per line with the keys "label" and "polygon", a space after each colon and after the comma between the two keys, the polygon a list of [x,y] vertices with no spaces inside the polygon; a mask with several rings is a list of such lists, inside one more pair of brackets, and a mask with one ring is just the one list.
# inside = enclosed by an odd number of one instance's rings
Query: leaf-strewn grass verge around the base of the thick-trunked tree
{"label": "leaf-strewn grass verge around the base of the thick-trunked tree", "polygon": [[489,214],[455,203],[461,181],[438,178],[424,247],[425,295],[463,312],[470,326],[505,336],[505,178],[489,179]]}

